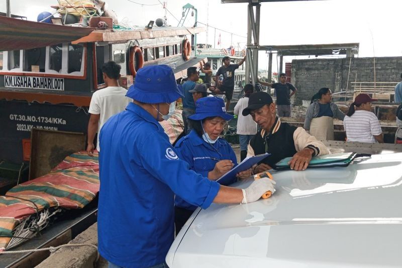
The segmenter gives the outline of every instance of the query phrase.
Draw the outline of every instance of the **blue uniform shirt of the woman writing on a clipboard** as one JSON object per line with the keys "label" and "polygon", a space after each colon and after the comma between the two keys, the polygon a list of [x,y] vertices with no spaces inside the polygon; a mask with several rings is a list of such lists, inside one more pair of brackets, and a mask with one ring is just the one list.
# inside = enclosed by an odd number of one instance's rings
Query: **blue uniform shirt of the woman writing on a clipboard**
{"label": "blue uniform shirt of the woman writing on a clipboard", "polygon": [[[214,147],[199,137],[195,130],[191,130],[187,136],[177,141],[175,149],[180,159],[190,165],[190,169],[205,177],[208,177],[208,172],[214,169],[218,162],[216,159],[232,160],[233,164],[237,165],[236,154],[226,140],[219,138],[212,145]],[[188,210],[197,208],[197,206],[185,202],[179,195],[174,198],[174,204]]]}

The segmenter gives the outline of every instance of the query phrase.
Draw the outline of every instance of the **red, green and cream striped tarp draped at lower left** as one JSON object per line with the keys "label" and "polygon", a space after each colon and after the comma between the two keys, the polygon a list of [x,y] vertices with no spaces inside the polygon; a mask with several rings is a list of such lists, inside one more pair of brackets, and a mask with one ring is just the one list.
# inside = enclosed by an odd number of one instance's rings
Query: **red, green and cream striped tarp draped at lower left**
{"label": "red, green and cream striped tarp draped at lower left", "polygon": [[98,192],[98,154],[90,157],[86,151],[73,153],[48,174],[10,189],[0,196],[0,251],[5,250],[21,220],[37,213],[36,207],[38,212],[52,207],[81,209]]}

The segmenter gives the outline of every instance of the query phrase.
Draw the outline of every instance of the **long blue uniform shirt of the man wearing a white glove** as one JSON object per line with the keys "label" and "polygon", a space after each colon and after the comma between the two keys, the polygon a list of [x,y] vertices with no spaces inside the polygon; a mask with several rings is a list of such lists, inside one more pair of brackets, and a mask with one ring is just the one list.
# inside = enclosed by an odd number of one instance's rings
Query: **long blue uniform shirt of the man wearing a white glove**
{"label": "long blue uniform shirt of the man wearing a white glove", "polygon": [[174,194],[208,208],[220,185],[179,159],[161,125],[130,103],[100,131],[98,249],[124,267],[165,260],[174,238]]}

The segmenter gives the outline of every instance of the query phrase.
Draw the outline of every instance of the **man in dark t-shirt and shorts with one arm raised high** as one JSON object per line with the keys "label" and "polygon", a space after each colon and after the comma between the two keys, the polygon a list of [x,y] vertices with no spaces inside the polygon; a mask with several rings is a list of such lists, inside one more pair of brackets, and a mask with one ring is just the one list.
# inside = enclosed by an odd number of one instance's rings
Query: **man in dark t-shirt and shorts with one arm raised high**
{"label": "man in dark t-shirt and shorts with one arm raised high", "polygon": [[[217,88],[213,91],[215,94],[225,94],[226,97],[226,111],[229,111],[230,101],[233,97],[233,91],[235,89],[235,70],[239,68],[246,60],[246,56],[237,64],[230,64],[230,57],[225,56],[222,59],[223,66],[221,66],[216,75],[215,81]],[[223,80],[219,79],[219,75],[223,76]]]}

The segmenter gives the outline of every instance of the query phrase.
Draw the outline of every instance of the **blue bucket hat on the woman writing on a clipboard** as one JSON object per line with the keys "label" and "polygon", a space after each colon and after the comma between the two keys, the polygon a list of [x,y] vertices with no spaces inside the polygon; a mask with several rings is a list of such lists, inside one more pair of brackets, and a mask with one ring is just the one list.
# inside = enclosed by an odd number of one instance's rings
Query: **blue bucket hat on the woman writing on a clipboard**
{"label": "blue bucket hat on the woman writing on a clipboard", "polygon": [[191,120],[203,120],[207,117],[222,117],[226,121],[233,119],[226,113],[225,103],[221,98],[204,97],[195,102],[195,114],[189,116]]}

